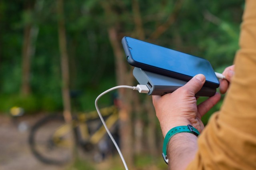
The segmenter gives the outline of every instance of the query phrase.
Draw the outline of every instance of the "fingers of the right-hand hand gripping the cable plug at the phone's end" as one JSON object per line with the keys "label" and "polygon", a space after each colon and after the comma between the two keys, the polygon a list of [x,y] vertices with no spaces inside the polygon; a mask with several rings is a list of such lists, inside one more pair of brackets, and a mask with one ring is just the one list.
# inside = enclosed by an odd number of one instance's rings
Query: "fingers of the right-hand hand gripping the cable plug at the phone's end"
{"label": "fingers of the right-hand hand gripping the cable plug at the phone's end", "polygon": [[235,73],[234,69],[235,65],[231,65],[223,71],[222,74],[226,77],[226,79],[220,79],[220,93],[224,94],[228,90],[229,83],[231,83],[232,77]]}

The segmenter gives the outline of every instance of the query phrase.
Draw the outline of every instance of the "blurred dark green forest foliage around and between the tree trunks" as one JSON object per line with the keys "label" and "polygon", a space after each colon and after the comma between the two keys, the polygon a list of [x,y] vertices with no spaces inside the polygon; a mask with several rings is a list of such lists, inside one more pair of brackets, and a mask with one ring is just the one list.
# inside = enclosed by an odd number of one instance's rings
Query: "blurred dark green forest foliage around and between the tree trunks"
{"label": "blurred dark green forest foliage around and between the tree trunks", "polygon": [[[112,15],[107,14],[104,3],[109,5]],[[27,8],[28,4],[31,8]],[[138,1],[138,6],[146,41],[206,58],[218,72],[232,64],[238,49],[244,1],[149,0]],[[134,36],[137,27],[133,4],[128,0],[65,1],[64,15],[70,87],[81,91],[72,103],[77,103],[74,105],[78,111],[89,111],[94,109],[94,99],[100,92],[116,85],[108,27],[114,26],[119,38],[138,38]],[[152,38],[160,26],[169,22],[171,15],[174,18],[166,31]],[[2,112],[13,105],[23,105],[29,113],[62,109],[57,19],[56,3],[52,1],[0,2]],[[28,24],[38,28],[38,36],[33,43],[34,55],[30,59],[32,92],[28,97],[21,97],[18,94],[22,81],[22,45],[24,27]],[[111,100],[111,95],[106,95],[100,100],[100,105],[110,105]],[[217,109],[219,106],[210,113]]]}

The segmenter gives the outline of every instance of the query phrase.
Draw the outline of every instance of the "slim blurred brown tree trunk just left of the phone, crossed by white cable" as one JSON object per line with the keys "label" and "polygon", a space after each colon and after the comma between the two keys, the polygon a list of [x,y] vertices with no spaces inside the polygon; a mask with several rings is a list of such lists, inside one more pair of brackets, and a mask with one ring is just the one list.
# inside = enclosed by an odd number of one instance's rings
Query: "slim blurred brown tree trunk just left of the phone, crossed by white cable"
{"label": "slim blurred brown tree trunk just left of the phone, crossed by white cable", "polygon": [[[114,27],[108,29],[108,35],[110,43],[114,50],[115,61],[116,61],[116,77],[118,85],[128,85],[130,84],[130,76],[127,76],[127,69],[124,63],[124,55],[122,48],[120,46],[120,40],[117,37],[117,31]],[[129,83],[128,83],[129,82]],[[129,89],[130,90],[130,89]],[[124,154],[126,163],[130,168],[133,166],[133,150],[132,147],[132,122],[131,122],[131,92],[127,89],[119,89],[118,91],[122,105],[119,112],[120,120],[120,139],[121,139],[121,150]]]}

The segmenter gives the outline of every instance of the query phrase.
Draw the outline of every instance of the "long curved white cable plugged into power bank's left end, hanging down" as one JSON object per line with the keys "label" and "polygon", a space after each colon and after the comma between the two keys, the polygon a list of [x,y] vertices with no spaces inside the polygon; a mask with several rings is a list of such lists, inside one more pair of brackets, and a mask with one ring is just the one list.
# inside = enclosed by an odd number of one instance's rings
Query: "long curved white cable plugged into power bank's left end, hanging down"
{"label": "long curved white cable plugged into power bank's left end, hanging down", "polygon": [[110,131],[109,131],[109,129],[108,129],[108,127],[107,127],[107,125],[106,125],[106,123],[105,123],[105,121],[104,121],[104,119],[103,119],[101,113],[100,113],[100,109],[98,108],[98,100],[100,99],[100,97],[102,97],[104,94],[106,94],[106,93],[108,93],[108,92],[110,92],[110,91],[112,91],[112,90],[120,89],[120,88],[128,88],[128,89],[138,90],[140,93],[148,93],[148,92],[149,92],[149,89],[148,89],[148,87],[147,87],[146,85],[137,85],[136,87],[135,87],[135,86],[132,87],[132,86],[127,86],[127,85],[120,85],[120,86],[116,86],[116,87],[113,87],[113,88],[111,88],[111,89],[108,89],[108,90],[104,91],[104,92],[101,93],[101,94],[96,98],[96,100],[95,100],[95,107],[96,107],[96,110],[97,110],[97,112],[98,112],[98,114],[99,114],[100,120],[102,121],[102,124],[103,124],[104,127],[106,128],[106,131],[107,131],[108,135],[110,136],[112,142],[113,142],[114,145],[116,146],[116,149],[117,149],[117,151],[118,151],[118,153],[119,153],[119,155],[120,155],[120,157],[121,157],[121,159],[122,159],[122,162],[123,162],[123,164],[124,164],[125,169],[128,170],[128,167],[127,167],[127,165],[126,165],[126,162],[125,162],[125,160],[124,160],[124,157],[123,157],[123,155],[122,155],[122,153],[121,153],[121,151],[120,151],[118,145],[116,144],[116,141],[114,140],[112,134],[110,133]]}

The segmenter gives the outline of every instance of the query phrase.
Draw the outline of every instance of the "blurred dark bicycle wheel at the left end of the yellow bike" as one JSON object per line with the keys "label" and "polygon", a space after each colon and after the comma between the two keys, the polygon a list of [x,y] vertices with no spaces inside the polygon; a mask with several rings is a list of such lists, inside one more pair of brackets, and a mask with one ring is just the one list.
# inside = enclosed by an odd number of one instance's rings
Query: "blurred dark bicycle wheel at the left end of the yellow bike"
{"label": "blurred dark bicycle wheel at the left end of the yellow bike", "polygon": [[46,164],[62,165],[72,159],[72,133],[62,116],[48,116],[30,131],[32,153]]}

